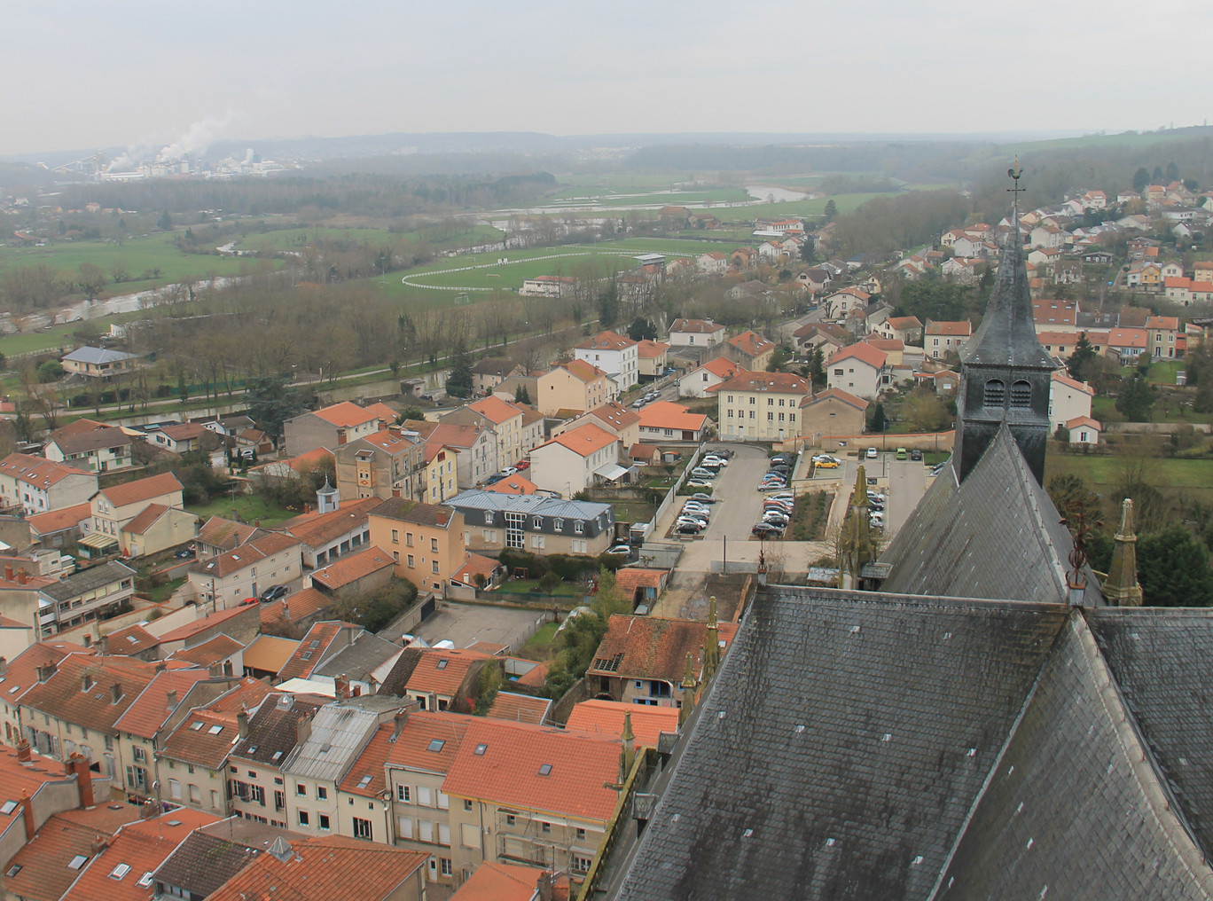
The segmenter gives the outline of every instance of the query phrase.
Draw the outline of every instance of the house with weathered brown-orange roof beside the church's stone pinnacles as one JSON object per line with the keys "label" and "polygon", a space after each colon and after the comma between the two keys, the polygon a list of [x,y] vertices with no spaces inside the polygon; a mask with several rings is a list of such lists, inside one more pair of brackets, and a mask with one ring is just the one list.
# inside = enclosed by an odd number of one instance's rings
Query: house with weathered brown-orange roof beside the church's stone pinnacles
{"label": "house with weathered brown-orange roof beside the church's stone pinnacles", "polygon": [[586,671],[591,691],[614,701],[655,707],[694,706],[683,692],[687,657],[696,685],[710,675],[736,634],[735,623],[661,620],[614,614]]}

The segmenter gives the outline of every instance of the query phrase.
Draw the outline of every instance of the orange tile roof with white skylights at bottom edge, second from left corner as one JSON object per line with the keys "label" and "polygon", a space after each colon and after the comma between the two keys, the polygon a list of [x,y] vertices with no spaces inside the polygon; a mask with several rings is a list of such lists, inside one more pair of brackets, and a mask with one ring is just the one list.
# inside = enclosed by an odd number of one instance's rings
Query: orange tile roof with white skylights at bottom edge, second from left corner
{"label": "orange tile roof with white skylights at bottom edge, second from left corner", "polygon": [[[155,884],[139,885],[194,829],[218,822],[200,810],[178,808],[123,826],[109,846],[80,874],[62,901],[150,901]],[[125,871],[121,867],[127,867]],[[114,873],[121,872],[121,876]]]}

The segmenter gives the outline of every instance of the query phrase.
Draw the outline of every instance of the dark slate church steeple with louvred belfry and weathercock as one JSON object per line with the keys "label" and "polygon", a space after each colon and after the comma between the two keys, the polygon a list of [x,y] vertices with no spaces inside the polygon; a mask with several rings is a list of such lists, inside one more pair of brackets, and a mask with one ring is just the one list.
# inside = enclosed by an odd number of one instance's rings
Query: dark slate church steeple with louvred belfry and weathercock
{"label": "dark slate church steeple with louvred belfry and weathercock", "polygon": [[1002,251],[985,317],[961,350],[961,390],[957,398],[953,464],[963,479],[976,466],[1006,422],[1037,483],[1044,479],[1044,446],[1049,435],[1049,377],[1057,365],[1036,340],[1027,266],[1019,234],[1018,196],[1021,172],[1014,179],[1016,204]]}

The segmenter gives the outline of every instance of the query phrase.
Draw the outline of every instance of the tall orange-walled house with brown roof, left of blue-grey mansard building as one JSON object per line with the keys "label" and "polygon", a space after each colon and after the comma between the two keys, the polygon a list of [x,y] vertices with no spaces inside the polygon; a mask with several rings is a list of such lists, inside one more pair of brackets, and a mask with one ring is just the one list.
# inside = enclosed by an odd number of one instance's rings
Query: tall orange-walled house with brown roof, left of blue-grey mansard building
{"label": "tall orange-walled house with brown roof, left of blue-grey mansard building", "polygon": [[395,576],[408,578],[421,592],[442,593],[463,563],[463,514],[449,503],[393,497],[368,514],[371,543],[392,554]]}

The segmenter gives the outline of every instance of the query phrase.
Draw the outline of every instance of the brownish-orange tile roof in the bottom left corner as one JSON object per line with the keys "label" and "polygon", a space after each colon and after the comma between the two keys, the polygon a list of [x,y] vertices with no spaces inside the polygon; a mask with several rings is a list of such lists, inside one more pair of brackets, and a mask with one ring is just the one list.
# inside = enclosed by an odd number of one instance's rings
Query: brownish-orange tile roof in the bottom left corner
{"label": "brownish-orange tile roof in the bottom left corner", "polygon": [[5,873],[8,897],[58,901],[80,876],[80,867],[68,865],[76,857],[92,857],[98,836],[108,839],[119,827],[138,819],[139,809],[133,804],[101,804],[56,814],[8,861],[8,867],[18,867],[12,876],[11,868]]}

